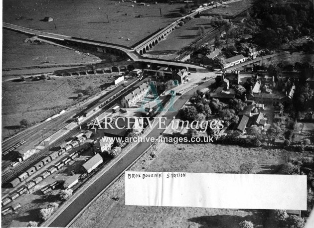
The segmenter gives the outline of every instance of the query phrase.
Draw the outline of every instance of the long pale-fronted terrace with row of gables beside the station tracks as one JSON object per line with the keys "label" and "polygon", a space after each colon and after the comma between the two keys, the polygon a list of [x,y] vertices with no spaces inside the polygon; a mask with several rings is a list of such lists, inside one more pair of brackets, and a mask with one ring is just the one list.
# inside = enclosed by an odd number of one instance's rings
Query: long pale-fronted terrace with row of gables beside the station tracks
{"label": "long pale-fronted terrace with row of gables beside the station tracks", "polygon": [[151,89],[148,82],[142,84],[138,88],[136,88],[130,94],[122,97],[121,105],[123,108],[131,108],[136,105],[139,101],[143,100],[144,97],[148,94]]}

